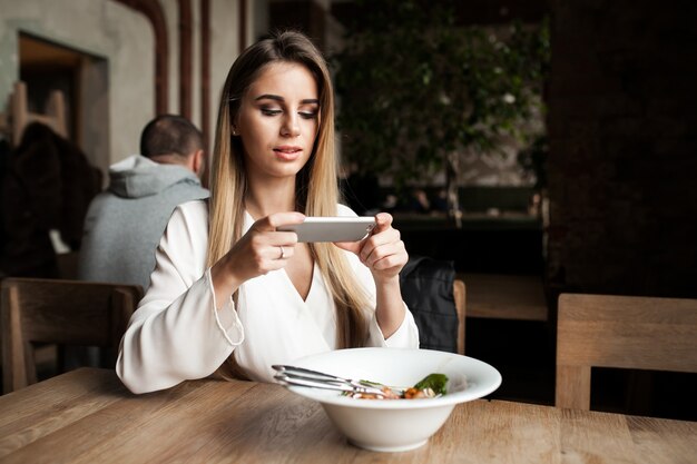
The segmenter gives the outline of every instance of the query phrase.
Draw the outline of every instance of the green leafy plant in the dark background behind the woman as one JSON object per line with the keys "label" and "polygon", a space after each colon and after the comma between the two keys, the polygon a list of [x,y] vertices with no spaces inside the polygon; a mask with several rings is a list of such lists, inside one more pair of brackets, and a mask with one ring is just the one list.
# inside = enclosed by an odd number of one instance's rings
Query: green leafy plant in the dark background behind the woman
{"label": "green leafy plant in the dark background behind the woman", "polygon": [[453,0],[365,2],[333,57],[344,156],[397,187],[446,168],[448,155],[497,150],[541,101],[547,24],[459,27]]}

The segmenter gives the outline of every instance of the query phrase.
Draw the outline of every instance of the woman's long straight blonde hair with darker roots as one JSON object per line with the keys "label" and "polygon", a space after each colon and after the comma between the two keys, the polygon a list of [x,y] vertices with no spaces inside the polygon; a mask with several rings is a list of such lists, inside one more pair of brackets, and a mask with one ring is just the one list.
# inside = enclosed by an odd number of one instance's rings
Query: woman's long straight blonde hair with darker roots
{"label": "woman's long straight blonde hair with darker roots", "polygon": [[[330,71],[320,51],[304,34],[277,32],[251,46],[235,60],[223,88],[210,176],[208,266],[220,259],[242,237],[247,177],[242,141],[232,136],[232,124],[244,92],[266,66],[275,62],[304,66],[314,76],[320,92],[317,137],[310,160],[295,181],[296,210],[307,216],[336,215],[340,192]],[[311,244],[310,249],[336,305],[336,345],[363,346],[367,336],[364,310],[369,302],[344,251],[332,244]]]}

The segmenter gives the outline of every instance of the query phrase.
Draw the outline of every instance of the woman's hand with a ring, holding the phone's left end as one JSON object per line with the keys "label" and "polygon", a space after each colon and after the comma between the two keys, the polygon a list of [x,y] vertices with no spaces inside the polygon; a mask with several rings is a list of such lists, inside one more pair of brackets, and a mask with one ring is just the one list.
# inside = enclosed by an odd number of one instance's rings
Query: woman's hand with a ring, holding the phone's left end
{"label": "woman's hand with a ring, holding the phone's left end", "polygon": [[301,224],[302,213],[275,213],[258,219],[249,230],[210,269],[213,285],[218,293],[232,295],[243,283],[285,267],[295,253],[297,235],[278,231],[277,227]]}

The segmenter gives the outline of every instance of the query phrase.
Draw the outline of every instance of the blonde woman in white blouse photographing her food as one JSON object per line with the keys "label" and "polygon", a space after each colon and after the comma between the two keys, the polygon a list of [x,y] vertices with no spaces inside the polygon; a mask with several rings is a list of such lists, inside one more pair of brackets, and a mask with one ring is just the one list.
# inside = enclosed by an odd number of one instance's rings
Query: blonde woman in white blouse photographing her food
{"label": "blonde woman in white blouse photographing her food", "polygon": [[337,204],[335,165],[333,90],[312,42],[282,32],[245,50],[223,89],[210,199],[173,214],[121,342],[128,388],[216,371],[273,382],[273,364],[313,353],[419,346],[390,215],[360,243],[301,244],[276,230],[305,215],[354,215]]}

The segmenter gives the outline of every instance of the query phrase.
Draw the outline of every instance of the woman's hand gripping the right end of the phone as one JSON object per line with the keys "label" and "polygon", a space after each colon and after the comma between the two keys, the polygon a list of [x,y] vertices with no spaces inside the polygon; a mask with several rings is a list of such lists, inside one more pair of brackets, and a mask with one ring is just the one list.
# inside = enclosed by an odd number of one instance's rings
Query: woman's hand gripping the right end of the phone
{"label": "woman's hand gripping the right end of the phone", "polygon": [[371,269],[376,282],[399,276],[409,259],[400,231],[392,227],[392,215],[387,213],[375,216],[375,227],[363,240],[342,241],[335,245],[355,253],[361,263]]}

